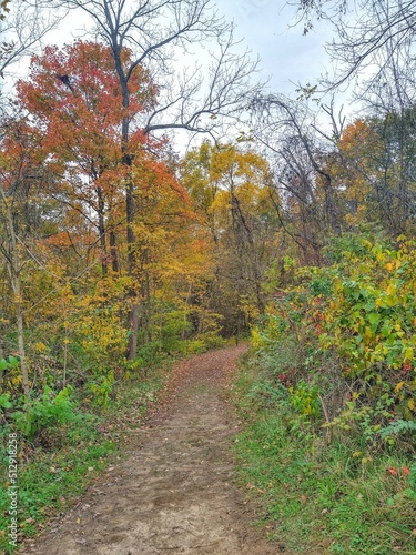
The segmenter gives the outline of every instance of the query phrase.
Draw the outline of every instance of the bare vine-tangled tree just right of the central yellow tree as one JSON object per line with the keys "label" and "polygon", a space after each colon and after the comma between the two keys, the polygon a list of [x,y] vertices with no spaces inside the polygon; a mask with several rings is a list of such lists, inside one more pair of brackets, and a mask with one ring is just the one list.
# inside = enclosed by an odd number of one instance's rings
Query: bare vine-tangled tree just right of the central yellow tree
{"label": "bare vine-tangled tree just right of the central yellow tree", "polygon": [[321,131],[322,124],[307,103],[277,94],[257,98],[253,108],[254,135],[274,159],[274,186],[282,199],[282,206],[275,208],[281,223],[301,248],[304,261],[316,263],[325,234],[341,231],[327,161],[343,121],[337,121],[333,104],[322,107],[331,117],[333,130]]}

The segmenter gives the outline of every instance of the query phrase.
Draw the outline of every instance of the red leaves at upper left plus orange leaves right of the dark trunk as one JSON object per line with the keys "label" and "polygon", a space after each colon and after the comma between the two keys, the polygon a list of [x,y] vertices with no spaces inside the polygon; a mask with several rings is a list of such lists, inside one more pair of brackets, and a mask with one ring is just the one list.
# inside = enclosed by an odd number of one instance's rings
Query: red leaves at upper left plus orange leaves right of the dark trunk
{"label": "red leaves at upper left plus orange leaves right of the dark trunk", "polygon": [[[129,50],[122,52],[125,67],[130,56]],[[53,194],[59,183],[69,206],[82,214],[94,213],[93,225],[101,243],[106,242],[110,230],[120,232],[116,222],[123,220],[126,181],[134,183],[138,196],[153,195],[159,213],[163,213],[160,199],[166,198],[166,190],[175,211],[176,204],[181,204],[177,199],[183,204],[184,191],[161,161],[165,140],[149,138],[138,123],[139,115],[156,101],[156,89],[144,68],[138,65],[129,79],[125,107],[108,47],[82,41],[61,50],[47,47],[43,56],[32,58],[30,75],[19,81],[18,94],[21,108],[31,114],[29,127],[39,133],[42,152],[53,169]],[[126,118],[132,129],[124,144],[122,129]],[[125,163],[126,153],[131,164]],[[87,220],[90,223],[89,216]],[[55,238],[57,245],[61,239]],[[108,261],[105,245],[102,260]]]}

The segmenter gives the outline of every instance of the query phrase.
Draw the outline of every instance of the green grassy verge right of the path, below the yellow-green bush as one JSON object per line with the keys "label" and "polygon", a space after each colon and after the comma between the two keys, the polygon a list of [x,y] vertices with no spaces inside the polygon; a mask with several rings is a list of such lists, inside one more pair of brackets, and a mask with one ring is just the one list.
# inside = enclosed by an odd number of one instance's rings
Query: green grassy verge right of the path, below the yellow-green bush
{"label": "green grassy verge right of the path, below the yellow-green bush", "polygon": [[237,477],[262,500],[258,525],[291,553],[416,553],[416,464],[407,443],[381,437],[369,448],[363,434],[326,427],[325,384],[304,383],[301,393],[291,385],[300,356],[293,337],[276,342],[275,352],[252,353],[235,389]]}

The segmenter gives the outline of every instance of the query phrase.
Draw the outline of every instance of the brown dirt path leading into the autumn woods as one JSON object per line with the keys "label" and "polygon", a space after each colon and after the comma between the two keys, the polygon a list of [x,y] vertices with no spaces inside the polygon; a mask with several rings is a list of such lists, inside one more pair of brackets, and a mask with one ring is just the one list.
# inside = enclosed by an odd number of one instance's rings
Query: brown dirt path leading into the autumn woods
{"label": "brown dirt path leading into the autumn woods", "polygon": [[125,460],[24,553],[280,553],[254,532],[254,515],[232,483],[230,445],[237,423],[222,392],[243,350],[223,349],[181,363],[164,411],[132,434]]}

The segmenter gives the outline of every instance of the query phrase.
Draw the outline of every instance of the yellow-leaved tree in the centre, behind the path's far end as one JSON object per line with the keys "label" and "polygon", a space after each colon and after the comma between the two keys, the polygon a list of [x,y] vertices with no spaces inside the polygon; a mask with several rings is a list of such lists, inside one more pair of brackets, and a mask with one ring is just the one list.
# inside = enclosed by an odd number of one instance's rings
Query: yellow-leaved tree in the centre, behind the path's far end
{"label": "yellow-leaved tree in the centre, behind the path's far end", "polygon": [[225,333],[239,335],[243,321],[265,310],[264,279],[278,226],[267,162],[251,150],[204,142],[186,155],[182,181],[212,240],[215,270],[207,302],[223,314]]}

